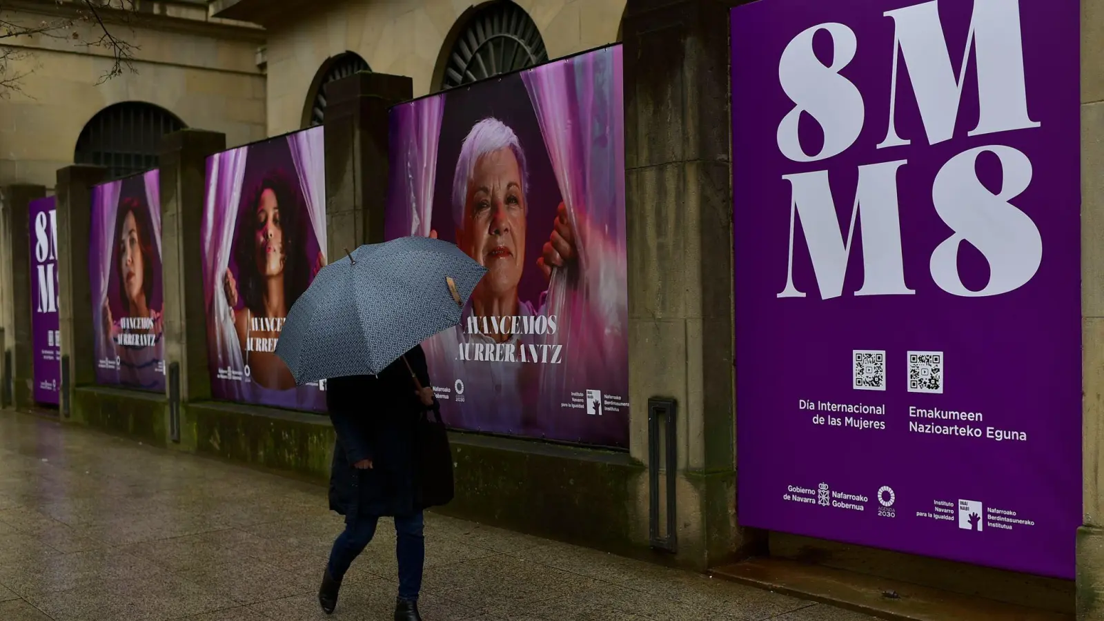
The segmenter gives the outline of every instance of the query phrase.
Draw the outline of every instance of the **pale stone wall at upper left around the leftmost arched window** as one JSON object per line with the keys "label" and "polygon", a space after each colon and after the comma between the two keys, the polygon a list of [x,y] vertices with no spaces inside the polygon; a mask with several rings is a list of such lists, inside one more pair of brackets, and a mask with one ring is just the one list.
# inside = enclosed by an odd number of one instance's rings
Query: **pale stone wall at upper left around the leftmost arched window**
{"label": "pale stone wall at upper left around the leftmost arched window", "polygon": [[[33,27],[74,19],[73,4],[13,0],[2,10],[6,20]],[[132,13],[105,12],[115,20],[112,33],[135,48],[135,71],[124,67],[110,80],[104,76],[113,59],[86,44],[100,36],[87,22],[77,20],[64,36],[52,31],[3,40],[21,52],[8,63],[8,75],[23,77],[0,98],[0,183],[52,189],[56,170],[79,159],[150,168],[159,139],[155,124],[222,131],[231,144],[264,138],[265,74],[257,56],[264,31],[210,17],[204,0],[136,6]]]}

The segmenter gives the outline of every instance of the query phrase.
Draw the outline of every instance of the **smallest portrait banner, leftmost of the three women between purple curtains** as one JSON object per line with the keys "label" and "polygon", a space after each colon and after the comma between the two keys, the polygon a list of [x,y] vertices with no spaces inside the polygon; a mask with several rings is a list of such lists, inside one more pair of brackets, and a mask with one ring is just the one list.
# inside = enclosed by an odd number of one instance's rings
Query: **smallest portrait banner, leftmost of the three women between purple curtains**
{"label": "smallest portrait banner, leftmost of the three women between purple curtains", "polygon": [[102,385],[164,390],[159,179],[150,170],[92,190],[88,280]]}

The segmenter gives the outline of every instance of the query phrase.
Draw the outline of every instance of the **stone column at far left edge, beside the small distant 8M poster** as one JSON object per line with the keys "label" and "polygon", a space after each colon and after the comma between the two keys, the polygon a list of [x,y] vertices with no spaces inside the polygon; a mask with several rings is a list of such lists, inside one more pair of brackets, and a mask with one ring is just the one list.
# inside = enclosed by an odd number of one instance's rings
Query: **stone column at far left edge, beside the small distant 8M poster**
{"label": "stone column at far left edge, beside the small distant 8M poster", "polygon": [[[31,246],[28,204],[46,196],[42,186],[8,186],[0,200],[0,288],[3,290],[4,330],[0,388],[4,407],[34,404],[33,339],[31,333]],[[10,360],[11,368],[7,368]],[[10,392],[9,392],[10,391]],[[7,402],[11,399],[11,402]]]}

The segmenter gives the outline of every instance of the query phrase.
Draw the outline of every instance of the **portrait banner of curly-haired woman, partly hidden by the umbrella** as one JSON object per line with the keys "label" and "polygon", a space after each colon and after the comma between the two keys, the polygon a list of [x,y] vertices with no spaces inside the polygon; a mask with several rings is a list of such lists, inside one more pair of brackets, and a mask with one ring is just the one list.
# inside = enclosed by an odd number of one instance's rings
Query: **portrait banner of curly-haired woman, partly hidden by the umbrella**
{"label": "portrait banner of curly-haired woman, partly hidden by the umbrella", "polygon": [[214,397],[325,411],[325,383],[297,387],[276,356],[287,312],[326,265],[322,128],[208,158],[202,227]]}

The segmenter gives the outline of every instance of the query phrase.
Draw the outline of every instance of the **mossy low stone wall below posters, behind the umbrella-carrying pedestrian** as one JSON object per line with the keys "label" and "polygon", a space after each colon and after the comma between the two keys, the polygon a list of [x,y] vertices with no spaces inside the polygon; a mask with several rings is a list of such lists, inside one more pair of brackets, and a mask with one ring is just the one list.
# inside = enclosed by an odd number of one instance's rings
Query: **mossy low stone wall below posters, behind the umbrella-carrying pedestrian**
{"label": "mossy low stone wall below posters, behind the umbrella-carrying pedestrian", "polygon": [[[189,403],[181,415],[184,443],[194,438],[197,453],[329,480],[326,415],[214,401]],[[457,496],[438,513],[608,551],[649,551],[635,492],[646,470],[627,454],[468,433],[450,440]],[[643,539],[630,535],[640,524]]]}

